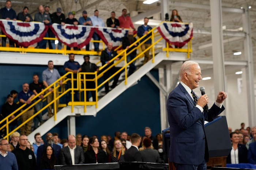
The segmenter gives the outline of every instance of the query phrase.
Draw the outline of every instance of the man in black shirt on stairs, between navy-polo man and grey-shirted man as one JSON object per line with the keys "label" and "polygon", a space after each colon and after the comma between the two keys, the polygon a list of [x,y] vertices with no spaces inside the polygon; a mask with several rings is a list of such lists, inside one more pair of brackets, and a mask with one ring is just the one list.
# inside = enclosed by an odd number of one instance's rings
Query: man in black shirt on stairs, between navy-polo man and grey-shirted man
{"label": "man in black shirt on stairs, between navy-polo man and grey-shirted man", "polygon": [[[42,82],[38,82],[39,78],[37,76],[37,74],[33,75],[33,82],[29,84],[29,89],[35,94],[37,95],[38,93],[42,92],[42,90],[44,90],[44,84]],[[41,110],[43,108],[43,99],[44,99],[44,94],[41,94],[40,96],[38,96],[34,101],[37,101],[41,99],[41,101],[39,101],[37,104],[35,104],[34,108],[35,108],[35,113],[37,113],[39,110]],[[38,128],[38,124],[40,123],[40,125],[43,123],[43,119],[42,119],[42,112],[40,112],[37,116],[34,117],[34,130],[36,128]]]}

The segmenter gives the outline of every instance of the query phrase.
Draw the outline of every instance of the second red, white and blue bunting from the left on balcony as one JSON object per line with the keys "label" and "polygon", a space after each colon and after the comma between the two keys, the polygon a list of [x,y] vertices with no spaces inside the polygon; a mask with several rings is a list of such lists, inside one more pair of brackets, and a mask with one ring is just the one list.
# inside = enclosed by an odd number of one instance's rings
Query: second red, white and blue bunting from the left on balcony
{"label": "second red, white and blue bunting from the left on balcony", "polygon": [[53,31],[53,34],[65,45],[69,47],[82,48],[83,46],[89,44],[93,33],[95,31],[94,27],[91,26],[74,26],[70,24],[65,24],[64,26],[60,24],[52,24],[49,26]]}

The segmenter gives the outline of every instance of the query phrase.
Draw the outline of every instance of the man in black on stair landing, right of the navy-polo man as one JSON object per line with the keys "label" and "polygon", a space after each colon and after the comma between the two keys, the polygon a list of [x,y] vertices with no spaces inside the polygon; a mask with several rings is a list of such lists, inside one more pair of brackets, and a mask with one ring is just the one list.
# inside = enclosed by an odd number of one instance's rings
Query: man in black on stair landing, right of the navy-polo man
{"label": "man in black on stair landing, right of the navy-polo man", "polygon": [[[81,65],[81,72],[86,72],[86,73],[94,73],[95,71],[99,72],[99,69],[96,64],[91,63],[90,56],[89,55],[84,55],[83,56],[84,63]],[[94,79],[95,76],[93,74],[87,74],[86,79]],[[86,89],[95,89],[95,82],[94,81],[86,81]],[[96,91],[92,90],[91,96],[93,97],[93,101],[96,101]],[[89,101],[89,91],[86,91],[86,101]]]}

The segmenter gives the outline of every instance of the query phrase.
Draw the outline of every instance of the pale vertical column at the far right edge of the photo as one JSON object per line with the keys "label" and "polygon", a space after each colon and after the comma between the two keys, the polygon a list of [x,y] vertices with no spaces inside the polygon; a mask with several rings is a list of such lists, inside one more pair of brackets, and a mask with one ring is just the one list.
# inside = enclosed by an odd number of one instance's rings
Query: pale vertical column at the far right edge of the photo
{"label": "pale vertical column at the far right edge of the photo", "polygon": [[[253,74],[253,57],[252,57],[252,33],[251,33],[251,19],[248,5],[245,5],[245,13],[242,14],[243,30],[246,32],[244,40],[244,56],[248,61],[245,70],[246,90],[247,90],[247,106],[248,106],[248,122],[249,126],[256,125],[255,115],[255,94],[254,94],[254,74]],[[244,74],[244,73],[243,73]]]}

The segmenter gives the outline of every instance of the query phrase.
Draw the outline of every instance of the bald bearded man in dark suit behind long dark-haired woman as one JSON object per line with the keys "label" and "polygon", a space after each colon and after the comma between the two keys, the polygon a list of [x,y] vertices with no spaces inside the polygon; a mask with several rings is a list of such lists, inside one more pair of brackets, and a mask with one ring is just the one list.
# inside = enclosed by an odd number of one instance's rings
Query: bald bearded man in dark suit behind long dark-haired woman
{"label": "bald bearded man in dark suit behind long dark-haired woman", "polygon": [[61,148],[59,145],[53,143],[53,135],[52,135],[52,133],[49,132],[46,134],[46,143],[39,146],[37,149],[37,166],[38,167],[39,167],[40,159],[43,155],[44,147],[48,146],[48,145],[52,146],[56,160],[59,159],[59,154],[60,154]]}

